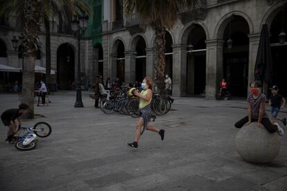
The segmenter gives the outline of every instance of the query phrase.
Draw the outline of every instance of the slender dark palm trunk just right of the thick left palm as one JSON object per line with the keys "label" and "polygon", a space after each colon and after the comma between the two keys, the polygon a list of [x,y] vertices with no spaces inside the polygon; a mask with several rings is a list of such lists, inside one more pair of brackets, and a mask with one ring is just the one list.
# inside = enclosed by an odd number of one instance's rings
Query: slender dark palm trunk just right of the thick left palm
{"label": "slender dark palm trunk just right of the thick left palm", "polygon": [[50,21],[49,18],[44,18],[46,28],[46,84],[49,91],[51,90],[51,34],[50,34]]}

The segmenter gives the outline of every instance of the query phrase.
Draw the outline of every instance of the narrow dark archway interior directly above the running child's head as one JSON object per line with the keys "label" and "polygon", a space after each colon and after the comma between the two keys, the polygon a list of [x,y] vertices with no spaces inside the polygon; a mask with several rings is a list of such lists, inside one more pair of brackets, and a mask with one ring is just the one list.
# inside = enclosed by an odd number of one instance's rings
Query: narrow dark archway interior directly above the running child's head
{"label": "narrow dark archway interior directly above the running child's head", "polygon": [[141,82],[143,78],[146,77],[146,42],[143,37],[139,37],[136,51],[135,80]]}

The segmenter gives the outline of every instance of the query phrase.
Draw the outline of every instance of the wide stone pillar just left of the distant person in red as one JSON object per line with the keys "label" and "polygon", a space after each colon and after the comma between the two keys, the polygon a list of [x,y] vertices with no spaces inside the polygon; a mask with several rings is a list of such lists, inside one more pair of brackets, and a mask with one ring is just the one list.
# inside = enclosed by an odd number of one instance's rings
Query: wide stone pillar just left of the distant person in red
{"label": "wide stone pillar just left of the distant person in red", "polygon": [[205,98],[216,98],[216,87],[223,79],[223,43],[222,39],[211,39],[207,44],[207,66]]}

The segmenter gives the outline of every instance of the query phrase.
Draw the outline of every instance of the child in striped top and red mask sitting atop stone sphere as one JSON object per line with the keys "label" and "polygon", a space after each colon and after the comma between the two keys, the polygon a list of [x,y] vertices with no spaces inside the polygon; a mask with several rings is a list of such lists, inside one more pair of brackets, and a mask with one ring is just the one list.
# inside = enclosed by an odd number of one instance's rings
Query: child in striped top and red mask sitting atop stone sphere
{"label": "child in striped top and red mask sitting atop stone sphere", "polygon": [[251,122],[257,122],[258,127],[266,128],[271,134],[277,132],[279,136],[284,135],[283,129],[277,122],[274,124],[268,118],[265,111],[266,96],[261,93],[262,84],[260,81],[254,81],[250,84],[251,93],[247,97],[247,111],[248,116],[245,116],[241,120],[235,123],[236,128],[241,128],[246,125],[250,125]]}

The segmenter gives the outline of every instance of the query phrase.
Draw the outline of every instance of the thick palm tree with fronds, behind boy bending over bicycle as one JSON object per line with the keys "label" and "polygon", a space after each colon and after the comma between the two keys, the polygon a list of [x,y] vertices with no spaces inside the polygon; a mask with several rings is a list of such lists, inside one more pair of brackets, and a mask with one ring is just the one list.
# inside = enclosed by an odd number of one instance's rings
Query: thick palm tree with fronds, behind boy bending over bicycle
{"label": "thick palm tree with fronds, behind boy bending over bicycle", "polygon": [[[49,21],[51,17],[51,10],[62,11],[67,7],[73,15],[80,14],[83,10],[89,10],[87,4],[83,4],[82,0],[0,0],[0,15],[16,16],[17,23],[24,28],[24,54],[26,65],[23,69],[22,80],[22,96],[21,102],[29,105],[31,112],[28,118],[34,117],[34,84],[35,84],[35,58],[37,51],[40,49],[39,35],[41,33],[40,26],[43,22]],[[44,9],[44,12],[41,10]],[[51,9],[51,10],[50,10]],[[89,13],[89,11],[87,11]],[[59,12],[58,12],[59,13]],[[62,15],[63,12],[60,12]],[[60,15],[61,15],[60,14]],[[46,26],[46,30],[49,26]],[[48,34],[50,35],[50,34]],[[48,40],[50,43],[50,40]],[[49,69],[51,73],[51,51],[49,46]]]}

